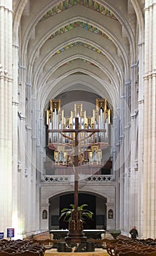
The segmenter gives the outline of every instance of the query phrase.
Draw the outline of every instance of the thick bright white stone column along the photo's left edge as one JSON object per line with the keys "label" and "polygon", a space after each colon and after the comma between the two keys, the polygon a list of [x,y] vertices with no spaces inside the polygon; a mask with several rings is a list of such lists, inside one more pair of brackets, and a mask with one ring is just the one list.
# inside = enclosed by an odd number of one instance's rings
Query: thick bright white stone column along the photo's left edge
{"label": "thick bright white stone column along the photo's left edge", "polygon": [[12,0],[0,1],[0,222],[12,227]]}

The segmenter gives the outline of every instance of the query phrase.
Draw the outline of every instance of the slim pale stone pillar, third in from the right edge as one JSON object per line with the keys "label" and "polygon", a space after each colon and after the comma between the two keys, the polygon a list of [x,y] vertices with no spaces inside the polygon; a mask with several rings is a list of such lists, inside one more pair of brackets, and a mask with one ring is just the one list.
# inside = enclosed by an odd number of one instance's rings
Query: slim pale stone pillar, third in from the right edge
{"label": "slim pale stone pillar, third in from the right edge", "polygon": [[[130,188],[129,188],[129,223],[127,230],[130,230],[133,225],[137,226],[139,200],[138,200],[138,78],[139,66],[138,63],[131,67],[131,113],[130,113]],[[133,211],[132,211],[133,209]]]}

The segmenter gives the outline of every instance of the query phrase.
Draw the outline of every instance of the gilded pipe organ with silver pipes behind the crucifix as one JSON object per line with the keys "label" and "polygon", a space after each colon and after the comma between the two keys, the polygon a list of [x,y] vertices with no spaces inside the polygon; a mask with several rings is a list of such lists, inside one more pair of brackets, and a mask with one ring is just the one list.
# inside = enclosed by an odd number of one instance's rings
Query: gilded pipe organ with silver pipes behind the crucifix
{"label": "gilded pipe organ with silver pipes behind the crucifix", "polygon": [[87,116],[82,104],[74,104],[64,116],[60,99],[50,100],[47,110],[48,147],[54,150],[55,165],[74,165],[75,118],[79,118],[79,165],[101,165],[102,149],[109,146],[110,109],[106,99],[96,99],[93,116]]}

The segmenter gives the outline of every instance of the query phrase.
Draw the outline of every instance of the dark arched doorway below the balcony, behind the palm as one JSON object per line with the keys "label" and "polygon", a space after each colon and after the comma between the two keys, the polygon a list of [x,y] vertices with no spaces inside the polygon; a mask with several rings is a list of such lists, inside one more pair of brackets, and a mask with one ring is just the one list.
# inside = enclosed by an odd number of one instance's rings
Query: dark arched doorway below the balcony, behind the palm
{"label": "dark arched doorway below the balcony, behind the palm", "polygon": [[[74,193],[51,197],[49,200],[49,229],[68,229],[68,222],[58,220],[61,209],[70,208],[74,204]],[[87,204],[87,209],[93,211],[93,221],[86,220],[84,229],[102,229],[106,227],[106,198],[98,195],[91,195],[85,192],[79,193],[79,206]]]}

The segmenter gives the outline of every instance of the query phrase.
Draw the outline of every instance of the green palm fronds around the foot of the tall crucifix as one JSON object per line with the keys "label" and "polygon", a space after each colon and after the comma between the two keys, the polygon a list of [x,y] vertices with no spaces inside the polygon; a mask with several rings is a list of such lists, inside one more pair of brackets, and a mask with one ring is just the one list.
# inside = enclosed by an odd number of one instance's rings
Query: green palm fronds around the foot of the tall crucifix
{"label": "green palm fronds around the foot of the tall crucifix", "polygon": [[[63,208],[61,210],[61,216],[59,219],[63,218],[64,222],[70,222],[72,219],[72,214],[74,213],[74,204],[70,205],[71,208]],[[82,206],[78,206],[77,211],[80,214],[80,219],[82,222],[85,222],[85,219],[92,219],[93,212],[85,209],[87,204],[82,204]]]}

